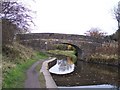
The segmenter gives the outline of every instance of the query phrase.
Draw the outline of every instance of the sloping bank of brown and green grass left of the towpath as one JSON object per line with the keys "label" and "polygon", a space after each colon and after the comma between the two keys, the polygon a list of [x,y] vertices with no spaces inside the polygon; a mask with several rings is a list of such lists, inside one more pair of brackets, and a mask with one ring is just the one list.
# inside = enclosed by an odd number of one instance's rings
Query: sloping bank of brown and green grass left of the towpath
{"label": "sloping bank of brown and green grass left of the towpath", "polygon": [[47,58],[46,54],[19,44],[4,49],[7,51],[3,52],[3,88],[23,88],[26,70],[37,60]]}

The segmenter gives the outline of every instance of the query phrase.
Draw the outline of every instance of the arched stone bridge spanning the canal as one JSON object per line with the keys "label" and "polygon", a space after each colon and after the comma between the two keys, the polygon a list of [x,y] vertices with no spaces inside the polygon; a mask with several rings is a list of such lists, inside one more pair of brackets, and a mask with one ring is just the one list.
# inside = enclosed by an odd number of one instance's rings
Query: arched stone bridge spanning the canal
{"label": "arched stone bridge spanning the canal", "polygon": [[35,50],[52,50],[55,44],[71,44],[82,50],[83,57],[89,56],[103,42],[102,39],[98,40],[89,36],[56,33],[18,34],[17,40]]}

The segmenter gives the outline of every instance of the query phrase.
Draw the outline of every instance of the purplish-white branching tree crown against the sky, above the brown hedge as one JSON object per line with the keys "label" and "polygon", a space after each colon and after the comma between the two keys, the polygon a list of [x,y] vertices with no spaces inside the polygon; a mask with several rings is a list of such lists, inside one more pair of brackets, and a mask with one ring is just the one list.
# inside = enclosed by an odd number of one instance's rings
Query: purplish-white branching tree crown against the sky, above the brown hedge
{"label": "purplish-white branching tree crown against the sky, above the brown hedge", "polygon": [[31,12],[30,9],[26,8],[25,5],[20,2],[3,1],[0,17],[9,20],[21,28],[18,32],[27,32],[30,24],[33,23]]}

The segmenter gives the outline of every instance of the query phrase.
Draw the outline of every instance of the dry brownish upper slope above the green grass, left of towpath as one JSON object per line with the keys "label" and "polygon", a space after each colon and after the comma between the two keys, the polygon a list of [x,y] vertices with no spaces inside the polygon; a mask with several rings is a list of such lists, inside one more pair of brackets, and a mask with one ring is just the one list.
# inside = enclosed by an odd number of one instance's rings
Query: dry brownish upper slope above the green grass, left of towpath
{"label": "dry brownish upper slope above the green grass, left of towpath", "polygon": [[2,46],[2,72],[7,73],[11,68],[16,67],[17,64],[26,62],[28,59],[35,56],[32,49],[28,49],[18,43],[12,45]]}

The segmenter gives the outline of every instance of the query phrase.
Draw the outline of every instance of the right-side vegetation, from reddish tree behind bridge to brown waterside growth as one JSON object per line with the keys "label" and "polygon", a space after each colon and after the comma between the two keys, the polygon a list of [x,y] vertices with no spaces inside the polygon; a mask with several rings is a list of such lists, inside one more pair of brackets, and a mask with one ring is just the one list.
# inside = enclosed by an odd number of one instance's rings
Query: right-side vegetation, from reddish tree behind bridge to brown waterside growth
{"label": "right-side vegetation, from reddish tree behind bridge to brown waterside growth", "polygon": [[113,35],[106,36],[106,33],[100,32],[100,29],[91,28],[85,34],[97,39],[104,38],[101,42],[101,46],[96,47],[96,49],[86,57],[87,61],[118,65],[120,58],[118,55],[119,30],[117,30]]}

